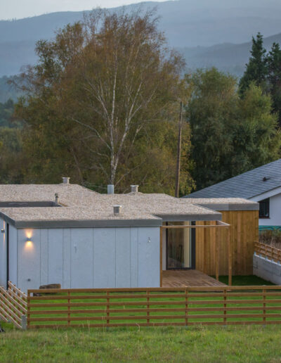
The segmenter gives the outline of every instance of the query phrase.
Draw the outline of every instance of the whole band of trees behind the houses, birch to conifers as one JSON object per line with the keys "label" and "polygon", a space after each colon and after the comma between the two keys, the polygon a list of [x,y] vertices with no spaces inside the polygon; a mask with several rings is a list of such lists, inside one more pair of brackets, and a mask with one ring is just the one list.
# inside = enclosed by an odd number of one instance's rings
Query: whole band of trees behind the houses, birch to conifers
{"label": "whole band of trees behind the houses, birch to conifers", "polygon": [[[180,196],[280,157],[281,49],[252,39],[237,79],[186,73],[153,11],[85,16],[39,41],[38,62],[0,103],[0,183],[72,183],[99,192],[139,184]],[[180,117],[180,104],[183,115]]]}

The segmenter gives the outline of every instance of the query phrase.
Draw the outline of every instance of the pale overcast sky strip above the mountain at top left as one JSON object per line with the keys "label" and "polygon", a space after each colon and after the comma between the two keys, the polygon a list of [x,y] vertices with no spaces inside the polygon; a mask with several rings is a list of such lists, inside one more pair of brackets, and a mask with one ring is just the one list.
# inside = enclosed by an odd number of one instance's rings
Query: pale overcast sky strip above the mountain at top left
{"label": "pale overcast sky strip above the mountain at top left", "polygon": [[139,2],[141,0],[0,0],[0,20],[20,19],[55,11],[91,10],[96,6],[113,8]]}

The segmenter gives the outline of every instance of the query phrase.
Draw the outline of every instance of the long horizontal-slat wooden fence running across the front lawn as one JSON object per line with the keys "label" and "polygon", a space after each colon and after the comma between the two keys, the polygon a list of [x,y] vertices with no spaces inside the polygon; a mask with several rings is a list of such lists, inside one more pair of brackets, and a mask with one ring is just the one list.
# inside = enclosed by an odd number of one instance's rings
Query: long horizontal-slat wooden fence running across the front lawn
{"label": "long horizontal-slat wooden fence running across the front lawn", "polygon": [[50,289],[27,293],[27,329],[197,324],[281,324],[281,286]]}

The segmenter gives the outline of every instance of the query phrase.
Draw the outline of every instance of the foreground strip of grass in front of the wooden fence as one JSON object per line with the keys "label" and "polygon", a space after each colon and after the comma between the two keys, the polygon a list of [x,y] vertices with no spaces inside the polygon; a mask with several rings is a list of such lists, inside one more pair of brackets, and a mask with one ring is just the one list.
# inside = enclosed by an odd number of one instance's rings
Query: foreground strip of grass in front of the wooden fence
{"label": "foreground strip of grass in front of the wooden fence", "polygon": [[0,362],[281,362],[281,325],[18,331]]}

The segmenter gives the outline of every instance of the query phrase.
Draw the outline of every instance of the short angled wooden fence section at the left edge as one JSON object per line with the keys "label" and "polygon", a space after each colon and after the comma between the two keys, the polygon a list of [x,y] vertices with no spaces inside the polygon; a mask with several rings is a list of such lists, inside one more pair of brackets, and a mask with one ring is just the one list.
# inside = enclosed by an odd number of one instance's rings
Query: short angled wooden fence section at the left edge
{"label": "short angled wooden fence section at the left edge", "polygon": [[17,328],[25,329],[27,295],[8,281],[8,290],[0,286],[0,319],[11,321]]}

